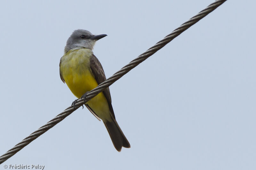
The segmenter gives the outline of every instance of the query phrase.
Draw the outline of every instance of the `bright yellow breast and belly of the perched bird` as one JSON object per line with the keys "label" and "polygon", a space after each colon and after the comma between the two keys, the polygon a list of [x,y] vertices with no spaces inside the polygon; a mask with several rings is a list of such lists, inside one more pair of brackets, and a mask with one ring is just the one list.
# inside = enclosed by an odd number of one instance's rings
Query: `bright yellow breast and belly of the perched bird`
{"label": "bright yellow breast and belly of the perched bird", "polygon": [[[73,55],[72,59],[66,60],[60,65],[63,79],[77,98],[82,97],[85,92],[91,91],[98,85],[88,62],[88,58],[81,58],[79,54],[76,54]],[[112,120],[108,101],[102,92],[89,100],[87,104],[103,121]]]}

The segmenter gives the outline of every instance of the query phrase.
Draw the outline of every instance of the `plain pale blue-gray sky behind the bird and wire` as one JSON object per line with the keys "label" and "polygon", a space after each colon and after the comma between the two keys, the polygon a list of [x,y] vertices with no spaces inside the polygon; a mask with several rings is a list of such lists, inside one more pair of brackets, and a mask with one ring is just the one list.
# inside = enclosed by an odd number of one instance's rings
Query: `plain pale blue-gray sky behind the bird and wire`
{"label": "plain pale blue-gray sky behind the bird and wire", "polygon": [[[108,34],[94,48],[108,78],[212,2],[2,2],[0,155],[76,99],[59,77],[73,30]],[[110,86],[130,149],[79,108],[0,170],[255,169],[254,7],[225,2]]]}

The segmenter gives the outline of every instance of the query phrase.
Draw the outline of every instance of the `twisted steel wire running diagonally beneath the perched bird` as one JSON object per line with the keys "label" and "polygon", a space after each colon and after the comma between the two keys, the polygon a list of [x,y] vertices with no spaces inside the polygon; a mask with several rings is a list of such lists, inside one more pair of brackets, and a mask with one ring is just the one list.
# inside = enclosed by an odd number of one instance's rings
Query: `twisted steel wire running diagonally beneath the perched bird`
{"label": "twisted steel wire running diagonally beneath the perched bird", "polygon": [[217,7],[219,7],[221,4],[223,4],[227,0],[216,0],[209,6],[207,6],[204,10],[200,11],[197,15],[190,18],[187,22],[183,23],[180,27],[176,28],[172,33],[164,37],[161,41],[157,42],[153,47],[149,48],[146,52],[139,55],[137,58],[132,60],[130,63],[128,63],[126,66],[124,66],[121,70],[117,71],[113,76],[102,82],[100,85],[98,85],[96,88],[92,89],[90,92],[87,93],[85,98],[80,98],[76,102],[75,107],[68,107],[65,109],[62,113],[54,117],[51,121],[47,122],[44,126],[40,127],[33,133],[31,133],[28,137],[23,139],[20,143],[16,144],[12,149],[7,151],[5,154],[3,154],[0,157],[0,164],[2,164],[5,160],[12,157],[15,153],[19,152],[22,148],[27,146],[30,142],[35,140],[37,137],[42,135],[47,130],[51,129],[53,126],[55,126],[57,123],[65,119],[68,115],[73,113],[77,108],[81,107],[84,103],[92,99],[94,96],[96,96],[98,93],[102,92],[106,87],[112,85],[116,80],[123,77],[127,72],[132,70],[134,67],[139,65],[141,62],[146,60],[149,56],[153,55],[158,51],[159,49],[163,48],[167,43],[172,41],[175,37],[180,35],[182,32],[187,30],[190,26],[194,25],[196,22],[198,22],[200,19],[204,18],[206,15],[208,15],[210,12],[215,10]]}

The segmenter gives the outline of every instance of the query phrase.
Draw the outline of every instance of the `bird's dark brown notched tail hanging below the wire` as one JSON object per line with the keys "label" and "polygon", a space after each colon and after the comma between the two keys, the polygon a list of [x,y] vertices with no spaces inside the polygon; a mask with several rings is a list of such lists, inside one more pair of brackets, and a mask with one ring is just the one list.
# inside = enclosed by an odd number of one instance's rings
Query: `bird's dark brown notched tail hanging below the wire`
{"label": "bird's dark brown notched tail hanging below the wire", "polygon": [[129,144],[128,140],[124,136],[121,128],[117,124],[115,119],[112,119],[112,122],[103,122],[108,130],[108,134],[118,152],[121,151],[122,146],[125,148],[130,148],[131,145]]}

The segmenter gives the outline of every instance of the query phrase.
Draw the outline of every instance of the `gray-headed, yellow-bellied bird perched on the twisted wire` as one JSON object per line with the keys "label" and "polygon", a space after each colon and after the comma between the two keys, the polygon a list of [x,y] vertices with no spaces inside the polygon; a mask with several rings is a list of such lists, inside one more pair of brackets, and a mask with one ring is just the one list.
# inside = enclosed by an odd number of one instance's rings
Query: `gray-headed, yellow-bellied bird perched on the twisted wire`
{"label": "gray-headed, yellow-bellied bird perched on the twisted wire", "polygon": [[[85,97],[87,92],[106,80],[102,65],[92,52],[95,42],[106,36],[78,29],[67,40],[64,55],[60,59],[60,79],[77,98]],[[74,106],[75,102],[76,100],[73,102]],[[131,147],[116,122],[109,88],[86,102],[85,106],[97,119],[103,121],[118,152],[122,147]]]}

